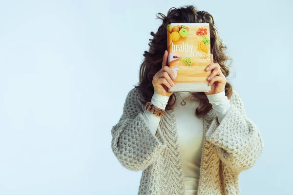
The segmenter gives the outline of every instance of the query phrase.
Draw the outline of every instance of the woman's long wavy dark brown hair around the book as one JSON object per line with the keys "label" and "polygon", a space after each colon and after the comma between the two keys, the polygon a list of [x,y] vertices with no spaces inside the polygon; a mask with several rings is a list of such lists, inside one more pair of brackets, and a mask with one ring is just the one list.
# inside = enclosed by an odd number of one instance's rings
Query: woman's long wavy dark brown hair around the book
{"label": "woman's long wavy dark brown hair around the book", "polygon": [[[232,61],[232,59],[228,58],[225,54],[227,47],[218,36],[213,17],[208,12],[198,11],[193,5],[189,5],[180,8],[172,7],[168,10],[167,16],[162,13],[158,13],[156,16],[157,19],[161,19],[163,22],[156,33],[150,33],[153,39],[149,39],[149,51],[145,51],[144,53],[145,59],[140,66],[139,84],[134,86],[144,94],[146,100],[141,100],[144,105],[147,101],[151,101],[154,94],[152,79],[162,68],[164,52],[167,50],[167,25],[170,23],[209,23],[210,46],[212,48],[211,53],[213,54],[214,63],[220,65],[221,71],[226,78],[229,76],[230,71],[227,61]],[[209,99],[204,92],[194,92],[191,94],[192,99],[199,101],[199,106],[195,110],[195,116],[203,117],[212,109]],[[225,86],[225,94],[228,99],[232,95],[232,86],[228,82]],[[173,93],[165,108],[166,112],[174,108],[175,102],[176,96]]]}

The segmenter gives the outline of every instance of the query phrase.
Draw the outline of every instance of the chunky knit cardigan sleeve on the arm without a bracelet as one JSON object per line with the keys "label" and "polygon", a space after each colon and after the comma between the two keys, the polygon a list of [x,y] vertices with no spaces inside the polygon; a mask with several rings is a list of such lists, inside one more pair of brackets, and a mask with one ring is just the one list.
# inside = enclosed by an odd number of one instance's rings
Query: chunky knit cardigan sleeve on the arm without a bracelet
{"label": "chunky knit cardigan sleeve on the arm without a bracelet", "polygon": [[243,102],[235,90],[230,104],[221,123],[217,117],[213,118],[206,139],[216,146],[221,161],[240,173],[255,164],[264,143],[257,126],[246,116]]}

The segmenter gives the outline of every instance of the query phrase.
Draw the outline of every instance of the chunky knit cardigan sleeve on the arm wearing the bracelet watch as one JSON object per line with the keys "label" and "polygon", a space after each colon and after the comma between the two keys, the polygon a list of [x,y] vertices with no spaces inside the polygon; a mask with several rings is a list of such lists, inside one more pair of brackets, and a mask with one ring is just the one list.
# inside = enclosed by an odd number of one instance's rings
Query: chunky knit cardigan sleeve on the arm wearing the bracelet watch
{"label": "chunky knit cardigan sleeve on the arm wearing the bracelet watch", "polygon": [[160,126],[152,134],[142,117],[144,105],[139,89],[131,89],[124,103],[123,114],[112,127],[111,147],[120,163],[131,171],[146,169],[167,146]]}

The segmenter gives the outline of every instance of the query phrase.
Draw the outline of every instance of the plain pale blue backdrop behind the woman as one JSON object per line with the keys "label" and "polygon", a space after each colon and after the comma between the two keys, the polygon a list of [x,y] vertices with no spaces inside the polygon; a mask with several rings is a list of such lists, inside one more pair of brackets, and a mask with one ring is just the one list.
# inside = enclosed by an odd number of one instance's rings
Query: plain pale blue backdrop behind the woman
{"label": "plain pale blue backdrop behind the woman", "polygon": [[0,195],[135,195],[142,172],[110,130],[171,7],[208,11],[233,59],[228,81],[264,139],[243,195],[293,186],[291,0],[1,0]]}

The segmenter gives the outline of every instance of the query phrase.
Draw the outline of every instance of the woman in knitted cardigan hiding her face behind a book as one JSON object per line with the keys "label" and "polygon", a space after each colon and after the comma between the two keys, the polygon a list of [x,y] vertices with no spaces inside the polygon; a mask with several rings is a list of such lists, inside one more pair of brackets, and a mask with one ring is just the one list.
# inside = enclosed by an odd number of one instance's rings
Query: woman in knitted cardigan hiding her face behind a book
{"label": "woman in knitted cardigan hiding her face behind a book", "polygon": [[[239,94],[226,81],[226,46],[213,17],[193,6],[171,8],[140,68],[140,82],[126,97],[113,126],[112,150],[129,170],[143,171],[139,195],[240,195],[238,176],[263,152],[263,140],[246,116]],[[209,92],[167,92],[174,72],[167,63],[167,24],[209,23]],[[178,100],[177,100],[178,99]],[[158,117],[145,107],[165,110]]]}

